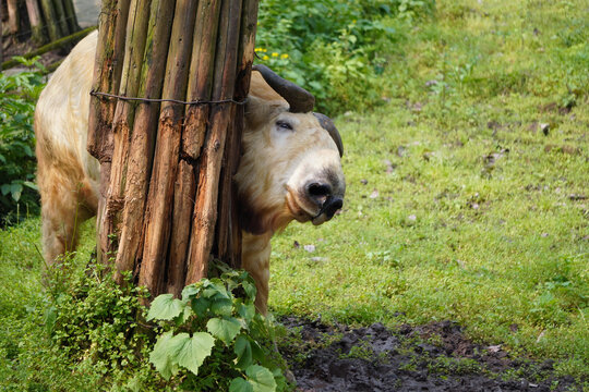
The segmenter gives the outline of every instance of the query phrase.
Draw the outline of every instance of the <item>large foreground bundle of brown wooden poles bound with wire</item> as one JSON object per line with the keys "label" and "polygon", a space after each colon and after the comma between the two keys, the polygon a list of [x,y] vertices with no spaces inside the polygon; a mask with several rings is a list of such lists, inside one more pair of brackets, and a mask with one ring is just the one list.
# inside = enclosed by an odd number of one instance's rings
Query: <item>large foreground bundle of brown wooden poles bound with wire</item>
{"label": "large foreground bundle of brown wooden poles bound with wire", "polygon": [[[232,176],[257,0],[104,0],[88,151],[100,162],[99,259],[152,295],[211,257],[239,267]],[[141,98],[141,99],[128,99]]]}

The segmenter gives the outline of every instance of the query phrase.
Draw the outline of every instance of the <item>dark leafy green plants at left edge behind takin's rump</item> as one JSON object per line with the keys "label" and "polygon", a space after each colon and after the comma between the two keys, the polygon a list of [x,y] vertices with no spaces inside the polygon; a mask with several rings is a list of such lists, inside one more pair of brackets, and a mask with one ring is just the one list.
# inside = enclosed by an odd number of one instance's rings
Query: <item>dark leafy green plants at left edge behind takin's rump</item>
{"label": "dark leafy green plants at left edge behind takin's rump", "polygon": [[16,58],[31,71],[0,72],[0,224],[14,221],[21,206],[36,209],[35,102],[45,86],[45,68],[38,58]]}

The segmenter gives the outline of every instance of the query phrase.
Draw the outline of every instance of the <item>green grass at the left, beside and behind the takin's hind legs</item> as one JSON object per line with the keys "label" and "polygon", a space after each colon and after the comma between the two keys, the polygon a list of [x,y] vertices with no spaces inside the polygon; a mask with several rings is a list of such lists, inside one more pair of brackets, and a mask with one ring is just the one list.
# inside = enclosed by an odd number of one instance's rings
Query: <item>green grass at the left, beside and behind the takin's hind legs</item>
{"label": "green grass at the left, beside and behind the takin's hind legs", "polygon": [[[0,231],[0,391],[88,391],[92,371],[72,375],[46,333],[50,306],[41,284],[40,220]],[[89,259],[92,222],[84,224],[77,260]]]}

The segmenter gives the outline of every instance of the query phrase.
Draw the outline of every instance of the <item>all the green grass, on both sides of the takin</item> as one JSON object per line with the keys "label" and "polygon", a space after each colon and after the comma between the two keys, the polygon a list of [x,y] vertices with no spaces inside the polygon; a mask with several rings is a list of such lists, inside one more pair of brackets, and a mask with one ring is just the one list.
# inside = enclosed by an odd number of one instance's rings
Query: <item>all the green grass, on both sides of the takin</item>
{"label": "all the green grass, on both sides of the takin", "polygon": [[[434,21],[389,21],[406,33],[383,54],[386,101],[336,121],[344,211],[275,237],[272,309],[452,319],[589,377],[588,12],[587,0],[438,0]],[[0,231],[0,389],[76,390],[44,331],[38,232],[38,219]]]}

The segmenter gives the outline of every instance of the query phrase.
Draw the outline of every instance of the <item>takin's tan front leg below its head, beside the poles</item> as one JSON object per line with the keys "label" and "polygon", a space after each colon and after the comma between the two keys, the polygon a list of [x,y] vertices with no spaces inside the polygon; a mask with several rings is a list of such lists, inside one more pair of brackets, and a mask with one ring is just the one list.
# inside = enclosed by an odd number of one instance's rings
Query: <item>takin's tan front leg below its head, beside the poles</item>
{"label": "takin's tan front leg below its head, beside the poles", "polygon": [[257,289],[255,308],[264,316],[268,309],[271,237],[271,234],[254,235],[243,232],[241,255],[241,266],[252,275]]}

